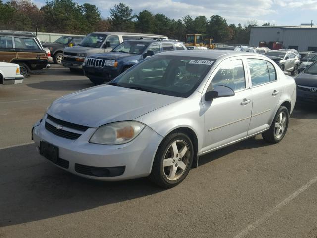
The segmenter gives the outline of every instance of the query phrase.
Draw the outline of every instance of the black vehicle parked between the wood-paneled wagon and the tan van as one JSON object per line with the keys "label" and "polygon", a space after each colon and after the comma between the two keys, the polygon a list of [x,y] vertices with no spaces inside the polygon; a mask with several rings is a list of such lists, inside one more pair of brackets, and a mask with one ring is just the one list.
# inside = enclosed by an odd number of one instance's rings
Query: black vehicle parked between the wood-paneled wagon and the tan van
{"label": "black vehicle parked between the wood-paneled wagon and the tan van", "polygon": [[55,63],[61,64],[63,59],[64,47],[75,46],[79,44],[85,36],[62,36],[53,43],[42,44],[51,51],[51,55]]}

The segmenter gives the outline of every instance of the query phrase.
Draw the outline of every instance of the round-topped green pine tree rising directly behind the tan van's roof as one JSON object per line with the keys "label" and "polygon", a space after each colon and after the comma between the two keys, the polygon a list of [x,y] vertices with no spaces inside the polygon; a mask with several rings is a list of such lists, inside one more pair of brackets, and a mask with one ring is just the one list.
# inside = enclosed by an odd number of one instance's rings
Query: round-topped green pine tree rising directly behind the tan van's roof
{"label": "round-topped green pine tree rising directly behind the tan van's roof", "polygon": [[131,32],[134,30],[132,9],[122,2],[110,9],[109,21],[112,31]]}

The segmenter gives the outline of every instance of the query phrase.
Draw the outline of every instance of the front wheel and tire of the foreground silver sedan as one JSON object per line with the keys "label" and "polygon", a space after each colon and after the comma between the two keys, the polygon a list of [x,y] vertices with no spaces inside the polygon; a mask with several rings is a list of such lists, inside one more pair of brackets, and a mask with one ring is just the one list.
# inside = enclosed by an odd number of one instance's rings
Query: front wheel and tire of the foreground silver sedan
{"label": "front wheel and tire of the foreground silver sedan", "polygon": [[[183,151],[184,148],[187,150]],[[177,152],[174,152],[176,150]],[[163,188],[171,188],[181,183],[192,167],[193,152],[193,143],[186,134],[177,132],[168,135],[159,145],[155,155],[151,181]]]}

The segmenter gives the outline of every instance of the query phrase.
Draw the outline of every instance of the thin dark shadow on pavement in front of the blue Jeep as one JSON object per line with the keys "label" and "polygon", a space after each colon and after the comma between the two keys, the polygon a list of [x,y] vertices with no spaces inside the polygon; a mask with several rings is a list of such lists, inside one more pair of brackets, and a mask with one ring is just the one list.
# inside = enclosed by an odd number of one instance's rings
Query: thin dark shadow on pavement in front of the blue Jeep
{"label": "thin dark shadow on pavement in front of the blue Jeep", "polygon": [[92,84],[89,79],[71,79],[71,80],[48,80],[38,83],[26,83],[26,86],[36,89],[44,89],[51,91],[70,91],[81,90],[89,87],[96,86]]}

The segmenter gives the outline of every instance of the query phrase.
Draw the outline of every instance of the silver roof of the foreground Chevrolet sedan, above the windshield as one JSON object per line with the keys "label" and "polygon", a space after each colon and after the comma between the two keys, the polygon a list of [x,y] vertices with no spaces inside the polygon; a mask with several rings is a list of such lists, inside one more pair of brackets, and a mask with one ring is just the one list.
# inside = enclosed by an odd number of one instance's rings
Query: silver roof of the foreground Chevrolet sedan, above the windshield
{"label": "silver roof of the foreground Chevrolet sedan, above the windshield", "polygon": [[249,53],[244,51],[230,51],[230,50],[195,50],[195,51],[166,51],[159,53],[159,55],[175,55],[175,56],[187,56],[187,57],[202,57],[210,59],[218,59],[223,56],[256,56],[262,55],[257,53]]}

